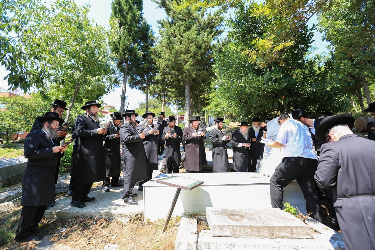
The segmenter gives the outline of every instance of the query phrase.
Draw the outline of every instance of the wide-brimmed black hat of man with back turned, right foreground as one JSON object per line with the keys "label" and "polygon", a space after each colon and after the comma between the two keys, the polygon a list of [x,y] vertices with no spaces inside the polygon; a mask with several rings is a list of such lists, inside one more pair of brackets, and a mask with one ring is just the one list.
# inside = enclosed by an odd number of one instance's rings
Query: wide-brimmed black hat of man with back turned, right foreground
{"label": "wide-brimmed black hat of man with back turned, right foreground", "polygon": [[318,141],[324,143],[326,142],[326,138],[324,134],[332,127],[338,124],[347,124],[350,129],[354,126],[354,117],[353,115],[349,114],[338,114],[338,115],[330,115],[324,117],[319,126],[317,127],[317,131],[315,132],[315,138]]}

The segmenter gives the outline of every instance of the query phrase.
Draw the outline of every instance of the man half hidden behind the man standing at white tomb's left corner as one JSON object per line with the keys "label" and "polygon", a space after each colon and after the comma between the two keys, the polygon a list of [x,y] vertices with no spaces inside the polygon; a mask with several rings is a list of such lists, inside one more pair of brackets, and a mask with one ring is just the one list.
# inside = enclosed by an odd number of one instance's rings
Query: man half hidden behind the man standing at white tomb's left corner
{"label": "man half hidden behind the man standing at white tomb's left corner", "polygon": [[[151,180],[152,172],[159,169],[159,159],[157,158],[157,141],[159,140],[159,130],[154,129],[153,118],[155,114],[153,112],[145,112],[142,115],[142,118],[147,119],[149,122],[148,126],[143,130],[145,138],[143,139],[143,147],[146,152],[146,162],[147,162],[147,171],[148,178],[139,181],[138,191],[143,191],[143,183]],[[141,131],[143,124],[137,126],[138,132]],[[154,135],[156,134],[156,135]]]}

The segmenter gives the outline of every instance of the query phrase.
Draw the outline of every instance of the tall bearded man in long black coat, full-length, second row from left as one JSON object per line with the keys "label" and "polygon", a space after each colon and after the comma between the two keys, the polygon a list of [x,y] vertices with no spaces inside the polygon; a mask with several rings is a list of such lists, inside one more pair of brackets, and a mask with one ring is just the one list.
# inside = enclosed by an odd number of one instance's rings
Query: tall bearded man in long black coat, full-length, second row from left
{"label": "tall bearded man in long black coat, full-length, second row from left", "polygon": [[86,114],[78,115],[75,123],[77,141],[77,160],[75,169],[75,191],[71,204],[84,208],[84,202],[95,201],[88,197],[94,182],[105,180],[103,139],[107,130],[99,126],[98,108],[102,105],[88,101],[81,107]]}

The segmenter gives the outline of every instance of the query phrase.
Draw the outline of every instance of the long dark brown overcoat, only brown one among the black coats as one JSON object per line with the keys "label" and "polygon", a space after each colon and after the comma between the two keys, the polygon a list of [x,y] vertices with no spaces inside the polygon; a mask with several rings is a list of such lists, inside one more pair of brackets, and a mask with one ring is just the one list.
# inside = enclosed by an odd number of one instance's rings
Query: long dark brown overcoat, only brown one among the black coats
{"label": "long dark brown overcoat, only brown one among the black coats", "polygon": [[185,142],[185,169],[189,171],[202,170],[201,149],[205,136],[193,137],[195,130],[192,126],[186,127],[182,133],[182,140]]}

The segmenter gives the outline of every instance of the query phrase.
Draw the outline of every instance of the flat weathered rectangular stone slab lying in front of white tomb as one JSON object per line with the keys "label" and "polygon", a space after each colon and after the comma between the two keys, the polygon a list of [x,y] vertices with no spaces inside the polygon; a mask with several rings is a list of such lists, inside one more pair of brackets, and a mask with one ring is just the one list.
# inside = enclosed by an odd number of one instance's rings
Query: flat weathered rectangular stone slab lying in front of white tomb
{"label": "flat weathered rectangular stone slab lying in front of white tomb", "polygon": [[278,208],[257,210],[208,207],[206,216],[211,236],[214,237],[313,238],[309,226]]}

